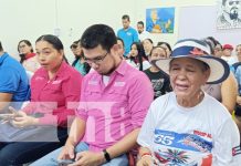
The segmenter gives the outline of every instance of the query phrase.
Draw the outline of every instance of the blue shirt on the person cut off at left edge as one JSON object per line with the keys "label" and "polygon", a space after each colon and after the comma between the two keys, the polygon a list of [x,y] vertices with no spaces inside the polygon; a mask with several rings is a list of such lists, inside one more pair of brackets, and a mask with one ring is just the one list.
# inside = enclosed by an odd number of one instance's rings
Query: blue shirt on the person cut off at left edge
{"label": "blue shirt on the person cut off at left edge", "polygon": [[23,102],[30,98],[25,70],[8,53],[0,56],[0,92],[11,93],[12,102]]}

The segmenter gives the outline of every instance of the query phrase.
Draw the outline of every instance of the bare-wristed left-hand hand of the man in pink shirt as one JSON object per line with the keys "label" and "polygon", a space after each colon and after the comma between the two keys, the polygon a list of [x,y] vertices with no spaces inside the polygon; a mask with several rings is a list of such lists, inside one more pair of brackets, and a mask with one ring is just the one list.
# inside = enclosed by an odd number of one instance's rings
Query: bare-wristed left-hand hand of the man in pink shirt
{"label": "bare-wristed left-hand hand of the man in pink shirt", "polygon": [[61,159],[74,159],[74,145],[66,142],[66,144],[63,146],[63,149],[61,151],[60,155],[57,156],[57,160]]}

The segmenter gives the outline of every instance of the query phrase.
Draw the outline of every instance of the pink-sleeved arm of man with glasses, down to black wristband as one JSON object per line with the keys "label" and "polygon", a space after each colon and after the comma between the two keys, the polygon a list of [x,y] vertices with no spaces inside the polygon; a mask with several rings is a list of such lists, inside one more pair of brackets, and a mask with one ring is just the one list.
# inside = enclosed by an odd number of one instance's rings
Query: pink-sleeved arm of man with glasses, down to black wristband
{"label": "pink-sleeved arm of man with glasses, down to black wristband", "polygon": [[135,129],[107,148],[111,158],[125,154],[137,144],[139,129],[144,123],[154,96],[153,85],[145,73],[142,74],[142,80],[136,79],[135,84],[133,84],[129,90],[129,107],[132,112],[132,123]]}

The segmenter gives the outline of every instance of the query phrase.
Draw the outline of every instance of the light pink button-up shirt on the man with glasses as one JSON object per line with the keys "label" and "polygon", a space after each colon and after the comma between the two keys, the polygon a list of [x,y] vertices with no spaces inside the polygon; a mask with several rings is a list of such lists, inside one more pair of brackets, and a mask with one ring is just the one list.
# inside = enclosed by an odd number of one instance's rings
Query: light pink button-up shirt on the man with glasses
{"label": "light pink button-up shirt on the man with glasses", "polygon": [[145,73],[125,61],[114,71],[108,84],[92,72],[83,79],[77,116],[86,121],[83,142],[91,151],[112,146],[139,128],[153,101],[153,87]]}

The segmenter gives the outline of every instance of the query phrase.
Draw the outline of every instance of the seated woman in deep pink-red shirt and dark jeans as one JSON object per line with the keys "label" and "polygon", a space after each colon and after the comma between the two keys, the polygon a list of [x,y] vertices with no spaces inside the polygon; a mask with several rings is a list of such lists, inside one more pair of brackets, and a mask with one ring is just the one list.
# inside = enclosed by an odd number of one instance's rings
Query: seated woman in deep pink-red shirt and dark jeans
{"label": "seated woman in deep pink-red shirt and dark jeans", "polygon": [[[31,102],[18,112],[11,122],[22,129],[31,126],[52,126],[59,141],[41,139],[48,131],[32,137],[38,141],[0,143],[0,165],[22,165],[35,160],[64,145],[67,138],[67,118],[74,115],[70,102],[78,102],[81,74],[64,61],[63,44],[54,35],[40,37],[35,42],[36,56],[42,65],[31,80]],[[40,114],[41,116],[32,116]],[[50,131],[52,132],[52,131]]]}

